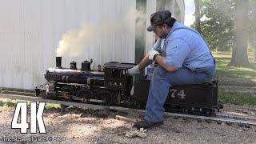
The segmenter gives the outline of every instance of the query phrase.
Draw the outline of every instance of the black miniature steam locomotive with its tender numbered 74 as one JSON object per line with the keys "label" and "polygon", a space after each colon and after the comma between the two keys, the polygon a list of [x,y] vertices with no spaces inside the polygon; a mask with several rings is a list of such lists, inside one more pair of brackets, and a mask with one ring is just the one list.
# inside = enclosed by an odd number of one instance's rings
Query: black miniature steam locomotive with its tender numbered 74
{"label": "black miniature steam locomotive with its tender numbered 74", "polygon": [[[104,64],[103,70],[100,67],[90,70],[90,63],[84,61],[82,68],[77,69],[77,63],[70,62],[70,68],[62,68],[62,58],[56,57],[56,67],[46,70],[47,83],[35,88],[37,96],[145,109],[150,78],[134,78],[127,74],[134,64],[108,62]],[[214,115],[221,108],[216,79],[197,85],[173,86],[165,104],[168,112],[206,116]]]}

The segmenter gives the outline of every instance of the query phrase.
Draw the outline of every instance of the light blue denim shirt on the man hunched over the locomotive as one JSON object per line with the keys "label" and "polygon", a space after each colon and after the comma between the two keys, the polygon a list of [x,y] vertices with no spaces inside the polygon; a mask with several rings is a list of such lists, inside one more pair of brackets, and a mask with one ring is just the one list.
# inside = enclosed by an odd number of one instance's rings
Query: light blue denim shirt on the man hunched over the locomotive
{"label": "light blue denim shirt on the man hunched over the locomotive", "polygon": [[158,38],[152,50],[166,57],[166,64],[177,68],[185,66],[190,70],[198,70],[215,66],[214,58],[202,36],[178,22],[174,23],[166,38]]}

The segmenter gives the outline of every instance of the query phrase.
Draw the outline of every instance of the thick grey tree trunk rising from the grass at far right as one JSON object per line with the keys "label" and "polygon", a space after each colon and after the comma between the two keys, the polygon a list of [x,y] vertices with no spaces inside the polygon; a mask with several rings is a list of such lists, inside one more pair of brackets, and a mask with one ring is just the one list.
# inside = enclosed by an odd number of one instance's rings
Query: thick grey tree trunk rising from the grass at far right
{"label": "thick grey tree trunk rising from the grass at far right", "polygon": [[234,12],[234,31],[236,43],[232,50],[231,62],[228,66],[248,66],[247,54],[247,11],[246,1],[239,1]]}

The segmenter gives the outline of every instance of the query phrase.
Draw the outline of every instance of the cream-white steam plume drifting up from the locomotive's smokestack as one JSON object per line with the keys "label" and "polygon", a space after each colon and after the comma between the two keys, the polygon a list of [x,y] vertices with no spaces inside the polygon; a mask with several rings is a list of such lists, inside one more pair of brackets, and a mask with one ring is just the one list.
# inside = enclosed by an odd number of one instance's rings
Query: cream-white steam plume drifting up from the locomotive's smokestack
{"label": "cream-white steam plume drifting up from the locomotive's smokestack", "polygon": [[[135,19],[141,19],[140,17],[142,17],[142,14],[131,8],[126,17],[122,19],[102,19],[98,25],[85,22],[80,30],[69,30],[66,34],[63,34],[62,40],[58,42],[57,56],[78,57],[89,48],[90,44],[96,42],[96,38],[101,38],[103,34],[125,34],[133,30]],[[118,39],[115,39],[115,41],[118,41]]]}

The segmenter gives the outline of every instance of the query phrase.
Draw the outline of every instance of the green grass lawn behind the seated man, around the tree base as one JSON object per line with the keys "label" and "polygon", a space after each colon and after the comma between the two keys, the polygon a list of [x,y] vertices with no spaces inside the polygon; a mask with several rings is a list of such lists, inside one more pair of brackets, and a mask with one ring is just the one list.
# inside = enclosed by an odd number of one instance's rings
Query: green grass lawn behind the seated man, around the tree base
{"label": "green grass lawn behind the seated man, around the tree base", "polygon": [[[250,66],[227,66],[231,59],[231,52],[213,53],[217,62],[216,76],[218,78],[241,78],[241,80],[256,79],[256,62],[253,54],[249,54]],[[237,90],[236,90],[237,91]],[[218,100],[222,104],[231,103],[235,105],[256,105],[256,94],[242,92],[226,92],[218,90]]]}

